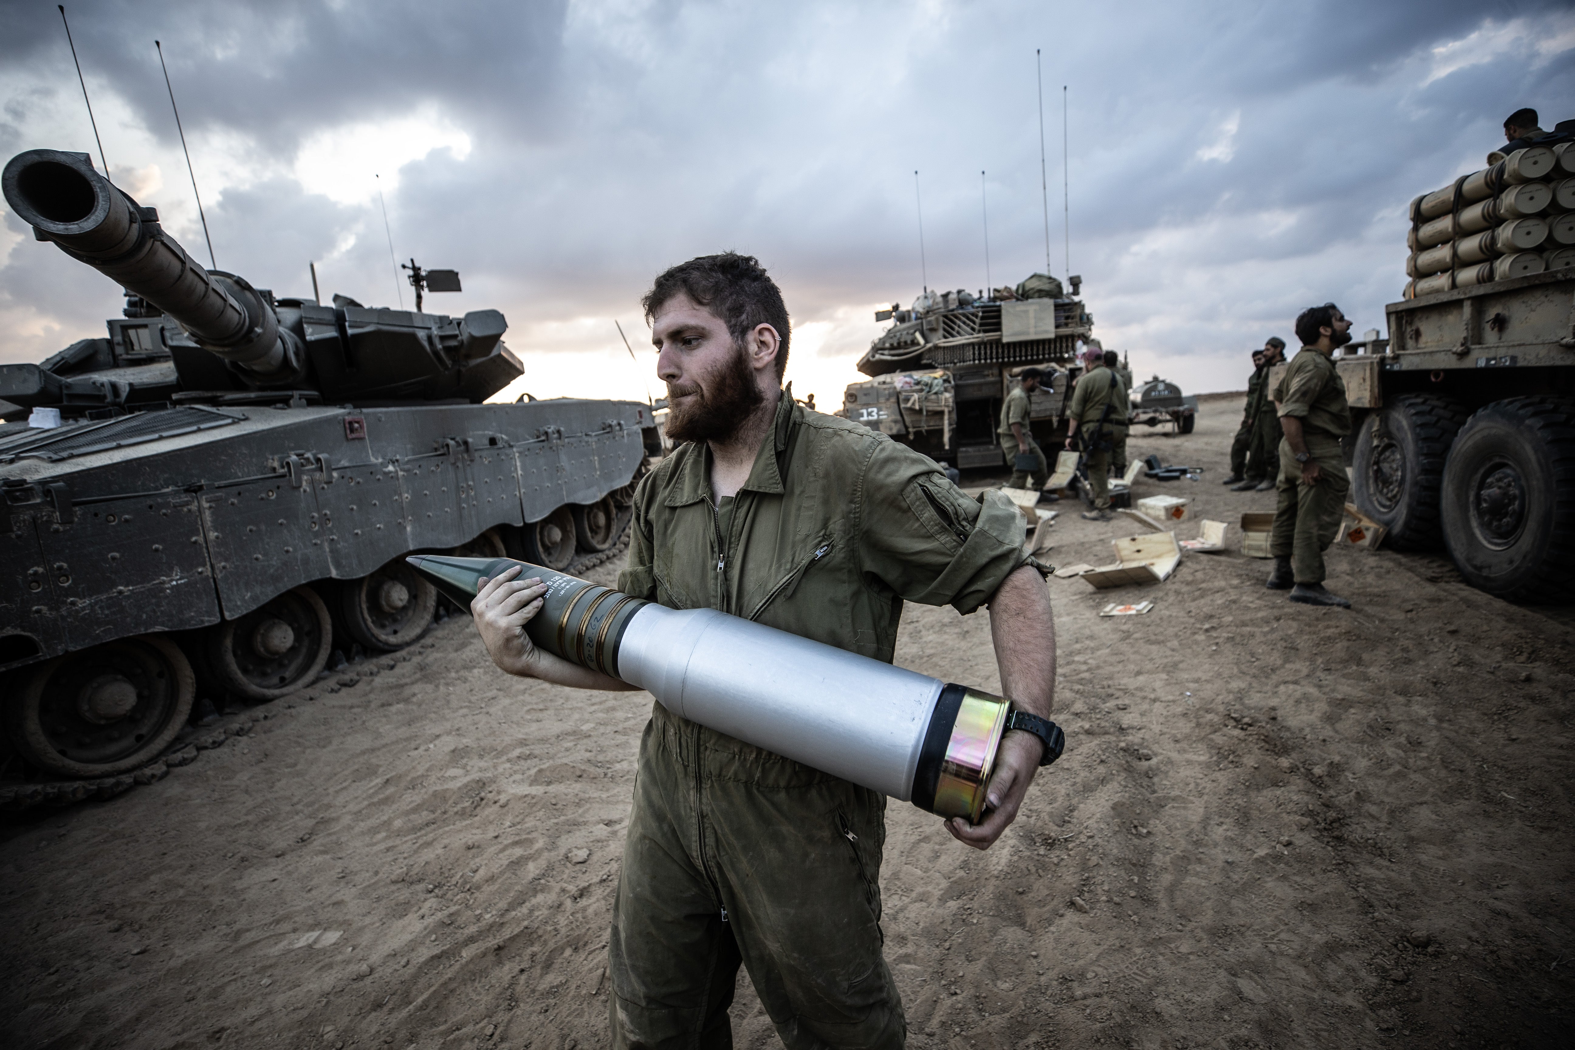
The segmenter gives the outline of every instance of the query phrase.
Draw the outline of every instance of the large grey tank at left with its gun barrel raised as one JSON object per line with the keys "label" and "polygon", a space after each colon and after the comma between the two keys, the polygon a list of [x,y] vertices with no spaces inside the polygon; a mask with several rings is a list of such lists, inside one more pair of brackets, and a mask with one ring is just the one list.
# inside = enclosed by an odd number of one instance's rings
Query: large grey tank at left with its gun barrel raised
{"label": "large grey tank at left with its gun barrel raised", "polygon": [[335,650],[411,644],[439,595],[410,553],[616,549],[650,408],[484,403],[523,373],[498,310],[274,296],[197,264],[87,154],[22,153],[0,184],[128,298],[106,337],[0,367],[28,411],[0,427],[0,779],[113,793],[198,694],[269,701]]}

